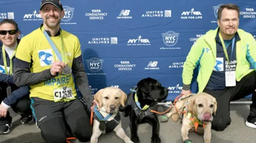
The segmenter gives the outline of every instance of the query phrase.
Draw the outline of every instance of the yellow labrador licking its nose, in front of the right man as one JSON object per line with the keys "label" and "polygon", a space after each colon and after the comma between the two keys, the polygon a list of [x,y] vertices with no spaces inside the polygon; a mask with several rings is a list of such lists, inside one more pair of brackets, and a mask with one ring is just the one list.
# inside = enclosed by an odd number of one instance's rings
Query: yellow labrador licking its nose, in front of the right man
{"label": "yellow labrador licking its nose, in front of the right man", "polygon": [[[176,108],[179,112],[177,112]],[[191,141],[188,137],[189,131],[194,127],[193,122],[198,121],[199,124],[204,125],[204,142],[207,143],[211,142],[212,114],[215,114],[216,110],[217,101],[212,95],[198,93],[192,96],[183,95],[180,100],[176,102],[176,107],[173,107],[166,116],[167,118],[171,117],[173,121],[178,121],[180,111],[184,111],[181,127],[183,141]]]}

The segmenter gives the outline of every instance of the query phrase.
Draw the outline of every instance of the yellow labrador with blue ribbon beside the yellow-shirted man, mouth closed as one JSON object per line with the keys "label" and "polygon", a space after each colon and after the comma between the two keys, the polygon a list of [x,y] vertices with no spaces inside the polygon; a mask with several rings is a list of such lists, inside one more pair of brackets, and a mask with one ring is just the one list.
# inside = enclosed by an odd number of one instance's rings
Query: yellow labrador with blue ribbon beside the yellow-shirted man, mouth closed
{"label": "yellow labrador with blue ribbon beside the yellow-shirted man, mouth closed", "polygon": [[[119,88],[106,87],[100,89],[94,98],[99,103],[99,107],[96,106],[94,109],[91,143],[98,142],[98,137],[101,134],[112,131],[126,143],[131,143],[131,139],[124,133],[119,114],[119,106],[122,105],[124,107],[127,95]],[[99,111],[97,108],[99,108]]]}

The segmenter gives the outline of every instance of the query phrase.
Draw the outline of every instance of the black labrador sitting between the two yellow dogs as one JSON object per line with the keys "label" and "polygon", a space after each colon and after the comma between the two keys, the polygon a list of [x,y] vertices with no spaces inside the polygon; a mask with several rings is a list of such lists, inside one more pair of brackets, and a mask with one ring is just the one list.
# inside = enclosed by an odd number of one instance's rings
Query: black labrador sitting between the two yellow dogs
{"label": "black labrador sitting between the two yellow dogs", "polygon": [[149,123],[153,126],[151,142],[161,142],[157,114],[150,112],[150,110],[157,111],[157,103],[167,98],[168,89],[161,86],[157,80],[147,77],[139,81],[137,87],[131,91],[125,102],[125,107],[120,107],[124,116],[130,115],[131,140],[139,142],[138,125]]}

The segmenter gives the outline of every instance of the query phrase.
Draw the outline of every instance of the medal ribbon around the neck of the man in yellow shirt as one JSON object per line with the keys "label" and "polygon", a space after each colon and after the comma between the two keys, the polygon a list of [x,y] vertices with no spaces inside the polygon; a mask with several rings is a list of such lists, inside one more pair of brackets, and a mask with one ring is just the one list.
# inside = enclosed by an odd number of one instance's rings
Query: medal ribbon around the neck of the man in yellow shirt
{"label": "medal ribbon around the neck of the man in yellow shirt", "polygon": [[[56,54],[56,56],[58,57],[58,59],[60,61],[63,61],[66,63],[66,59],[65,59],[65,54],[64,54],[64,44],[63,44],[63,38],[62,38],[62,32],[61,32],[61,45],[62,45],[62,53],[60,54],[59,50],[57,49],[57,47],[54,45],[53,41],[51,40],[50,36],[46,33],[45,30],[43,30],[43,34],[46,37],[46,40],[49,42],[49,44],[51,45],[52,49],[54,50],[54,53]],[[62,57],[64,58],[64,60],[62,59]]]}

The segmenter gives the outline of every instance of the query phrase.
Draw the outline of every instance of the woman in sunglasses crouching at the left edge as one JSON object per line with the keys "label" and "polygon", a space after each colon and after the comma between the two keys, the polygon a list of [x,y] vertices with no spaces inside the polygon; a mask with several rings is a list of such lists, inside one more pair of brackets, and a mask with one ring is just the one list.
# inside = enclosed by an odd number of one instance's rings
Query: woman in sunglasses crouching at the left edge
{"label": "woman in sunglasses crouching at the left edge", "polygon": [[0,134],[10,132],[12,118],[8,109],[21,115],[21,123],[33,122],[30,109],[29,87],[17,87],[13,78],[13,65],[20,31],[14,20],[0,22]]}

